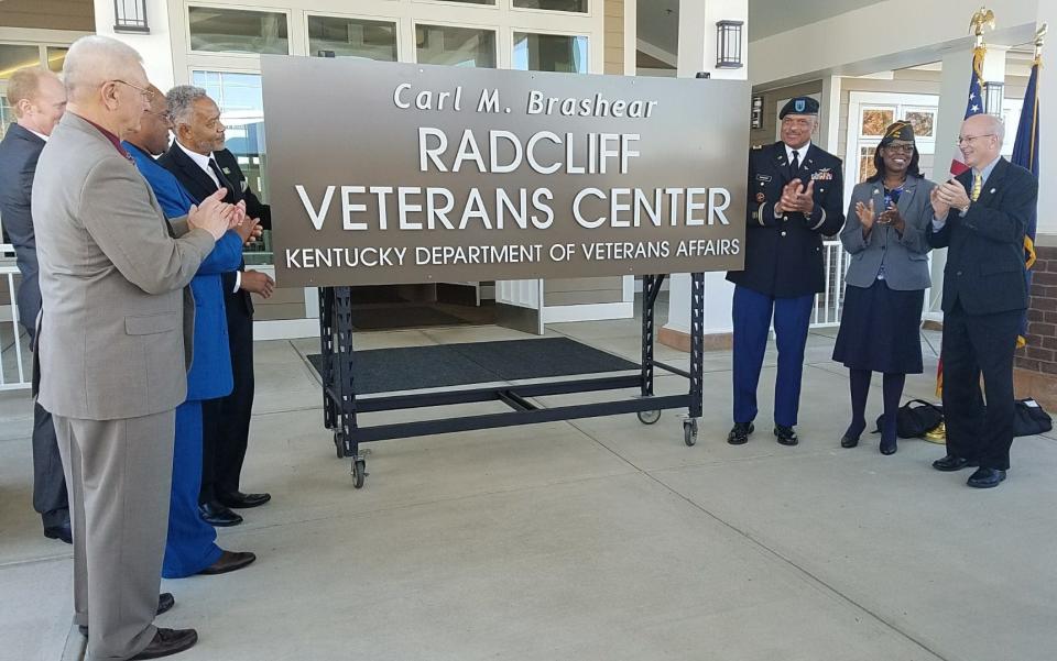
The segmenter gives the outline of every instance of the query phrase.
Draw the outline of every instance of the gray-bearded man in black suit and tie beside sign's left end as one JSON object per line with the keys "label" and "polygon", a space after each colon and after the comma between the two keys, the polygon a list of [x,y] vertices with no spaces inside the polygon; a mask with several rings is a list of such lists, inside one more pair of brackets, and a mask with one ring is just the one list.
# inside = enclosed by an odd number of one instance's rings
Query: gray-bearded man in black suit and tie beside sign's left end
{"label": "gray-bearded man in black suit and tie beside sign's left end", "polygon": [[[226,202],[246,202],[247,216],[271,229],[271,209],[249,187],[235,155],[224,147],[220,109],[206,91],[182,85],[166,95],[176,140],[159,163],[176,176],[195,201],[227,188]],[[235,389],[227,397],[203,403],[203,469],[199,508],[214,526],[237,526],[242,517],[231,508],[258,507],[269,494],[244,494],[239,478],[246,459],[253,409],[253,302],[250,294],[272,295],[266,274],[239,269],[225,273],[225,307]]]}

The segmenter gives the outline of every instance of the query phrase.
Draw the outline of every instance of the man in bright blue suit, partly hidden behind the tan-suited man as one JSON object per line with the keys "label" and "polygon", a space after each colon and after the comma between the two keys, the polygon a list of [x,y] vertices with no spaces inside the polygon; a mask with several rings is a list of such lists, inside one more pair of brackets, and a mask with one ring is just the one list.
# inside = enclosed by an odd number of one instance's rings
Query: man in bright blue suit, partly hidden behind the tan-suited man
{"label": "man in bright blue suit, partly hidden behind the tan-suited man", "polygon": [[[194,201],[176,178],[154,162],[154,155],[168,146],[172,122],[163,95],[151,86],[153,98],[140,130],[126,136],[126,148],[135,159],[143,178],[151,185],[167,218],[187,213]],[[187,374],[187,400],[176,408],[176,443],[173,458],[173,486],[168,510],[168,538],[162,575],[181,579],[194,574],[222,574],[253,562],[253,553],[225,551],[216,544],[217,532],[198,516],[198,489],[201,483],[201,403],[231,392],[231,357],[228,353],[228,326],[224,311],[220,274],[235,271],[242,258],[242,244],[253,234],[252,223],[243,222],[217,242],[190,282],[195,297],[194,360]],[[259,231],[258,231],[259,232]]]}

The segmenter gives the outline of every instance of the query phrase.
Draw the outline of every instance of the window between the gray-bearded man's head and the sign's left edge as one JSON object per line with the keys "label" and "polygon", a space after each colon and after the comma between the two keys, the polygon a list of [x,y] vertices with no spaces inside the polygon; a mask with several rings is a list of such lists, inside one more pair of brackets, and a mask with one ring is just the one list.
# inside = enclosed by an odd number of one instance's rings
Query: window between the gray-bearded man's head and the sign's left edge
{"label": "window between the gray-bearded man's head and the sign's left edge", "polygon": [[[225,146],[235,154],[247,184],[262,202],[268,201],[265,173],[268,150],[264,142],[264,102],[260,74],[193,71],[192,84],[206,90],[220,107],[220,121],[227,128]],[[247,264],[272,263],[271,232],[246,249]]]}

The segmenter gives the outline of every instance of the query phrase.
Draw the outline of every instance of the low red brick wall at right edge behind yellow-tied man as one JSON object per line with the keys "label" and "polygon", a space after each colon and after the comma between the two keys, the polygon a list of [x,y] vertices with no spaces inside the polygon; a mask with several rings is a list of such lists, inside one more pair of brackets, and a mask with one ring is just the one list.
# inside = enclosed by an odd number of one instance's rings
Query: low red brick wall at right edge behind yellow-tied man
{"label": "low red brick wall at right edge behind yellow-tied man", "polygon": [[1038,247],[1032,268],[1027,346],[1016,352],[1016,367],[1057,375],[1057,247]]}

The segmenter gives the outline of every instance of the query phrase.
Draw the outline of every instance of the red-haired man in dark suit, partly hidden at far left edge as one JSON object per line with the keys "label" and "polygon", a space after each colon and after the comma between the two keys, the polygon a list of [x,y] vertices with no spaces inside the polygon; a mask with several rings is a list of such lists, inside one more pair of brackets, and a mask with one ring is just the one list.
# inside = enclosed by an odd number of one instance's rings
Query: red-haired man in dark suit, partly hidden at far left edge
{"label": "red-haired man in dark suit, partly hidden at far left edge", "polygon": [[[48,135],[66,109],[66,90],[58,76],[43,67],[19,69],[8,81],[8,102],[15,123],[0,142],[0,218],[14,245],[22,284],[19,286],[19,322],[33,345],[36,315],[41,310],[36,240],[30,192],[36,161]],[[33,508],[44,524],[44,536],[73,542],[63,462],[52,415],[33,404]]]}

